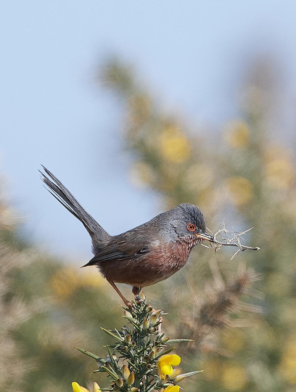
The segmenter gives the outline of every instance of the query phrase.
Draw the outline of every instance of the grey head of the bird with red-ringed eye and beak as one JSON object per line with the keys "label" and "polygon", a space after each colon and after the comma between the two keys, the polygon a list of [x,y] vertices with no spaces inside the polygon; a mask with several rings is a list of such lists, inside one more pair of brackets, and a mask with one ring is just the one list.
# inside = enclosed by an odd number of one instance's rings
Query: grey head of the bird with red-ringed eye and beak
{"label": "grey head of the bird with red-ringed eye and beak", "polygon": [[205,219],[202,211],[196,205],[183,203],[168,212],[170,213],[170,223],[178,238],[193,241],[195,244],[202,240],[214,240],[206,232]]}

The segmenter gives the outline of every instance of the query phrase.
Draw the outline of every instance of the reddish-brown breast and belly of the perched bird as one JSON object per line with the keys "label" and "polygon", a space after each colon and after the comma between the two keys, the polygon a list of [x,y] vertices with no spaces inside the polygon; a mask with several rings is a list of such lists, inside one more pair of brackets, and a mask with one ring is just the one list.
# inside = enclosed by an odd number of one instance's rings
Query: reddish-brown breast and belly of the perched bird
{"label": "reddish-brown breast and belly of the perched bird", "polygon": [[169,278],[182,268],[190,250],[178,244],[158,246],[138,258],[108,261],[100,265],[99,269],[108,281],[136,287],[150,286]]}

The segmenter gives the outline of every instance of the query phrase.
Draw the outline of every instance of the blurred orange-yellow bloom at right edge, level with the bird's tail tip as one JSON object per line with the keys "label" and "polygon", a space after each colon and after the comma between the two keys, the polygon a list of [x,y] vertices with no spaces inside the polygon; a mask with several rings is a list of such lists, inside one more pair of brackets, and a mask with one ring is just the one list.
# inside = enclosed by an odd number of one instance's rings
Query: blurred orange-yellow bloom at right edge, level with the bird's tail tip
{"label": "blurred orange-yellow bloom at right edge, level with the bird's tail tip", "polygon": [[294,168],[288,160],[279,158],[267,164],[266,174],[269,185],[278,189],[285,188],[293,180]]}

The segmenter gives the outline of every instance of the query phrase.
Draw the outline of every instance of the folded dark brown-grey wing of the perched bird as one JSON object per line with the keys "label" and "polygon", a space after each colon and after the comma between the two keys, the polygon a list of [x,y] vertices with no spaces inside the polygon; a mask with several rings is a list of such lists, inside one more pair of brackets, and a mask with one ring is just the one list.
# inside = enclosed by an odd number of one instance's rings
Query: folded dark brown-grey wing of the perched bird
{"label": "folded dark brown-grey wing of the perched bird", "polygon": [[145,243],[133,243],[130,244],[127,241],[111,241],[106,245],[100,252],[98,252],[89,262],[83,267],[88,265],[95,265],[102,261],[108,260],[123,260],[127,258],[140,257],[145,253],[148,253],[150,247]]}

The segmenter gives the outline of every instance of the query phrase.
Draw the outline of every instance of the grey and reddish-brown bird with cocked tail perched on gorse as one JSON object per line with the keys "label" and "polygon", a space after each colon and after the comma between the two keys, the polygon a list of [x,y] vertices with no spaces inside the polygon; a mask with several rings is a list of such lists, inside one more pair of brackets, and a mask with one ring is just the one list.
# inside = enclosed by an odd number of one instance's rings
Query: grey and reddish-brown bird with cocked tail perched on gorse
{"label": "grey and reddish-brown bird with cocked tail perched on gorse", "polygon": [[47,176],[42,181],[48,191],[82,222],[91,236],[94,257],[82,267],[96,265],[123,303],[131,307],[115,283],[133,286],[133,294],[142,287],[169,278],[187,262],[194,246],[203,240],[214,241],[206,232],[200,209],[182,203],[122,234],[111,236],[85,211],[68,189],[42,165]]}

